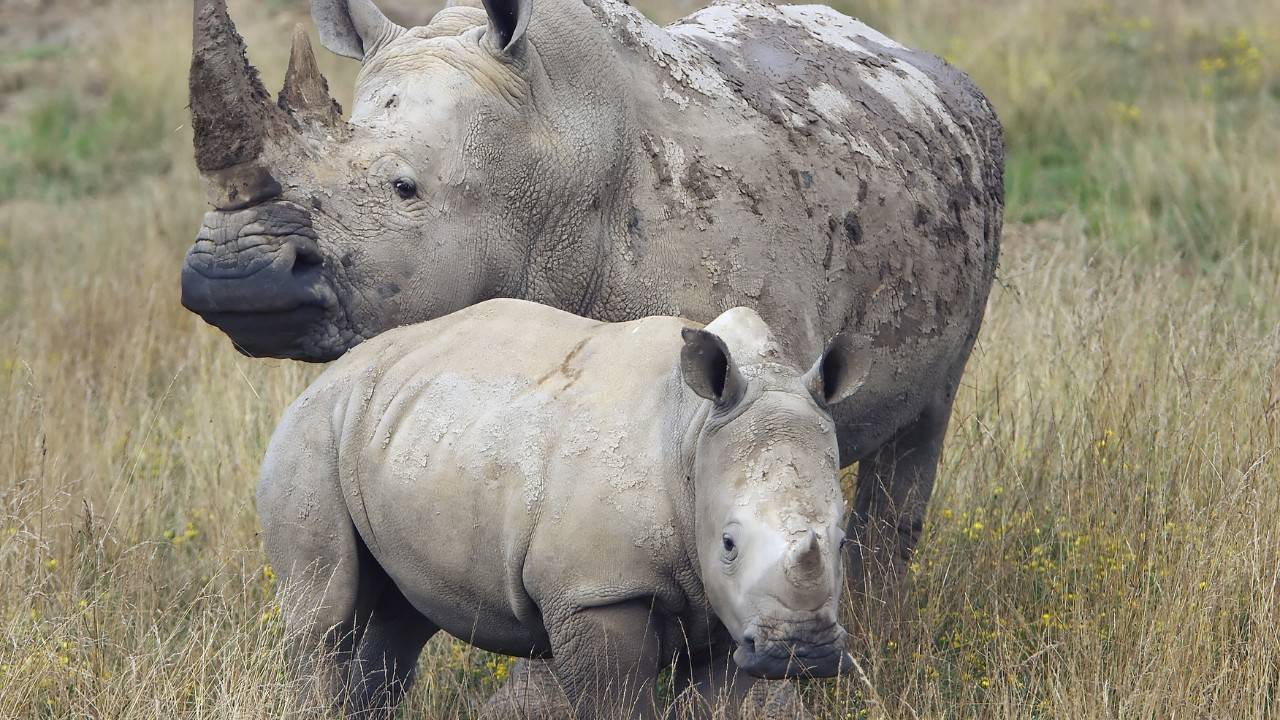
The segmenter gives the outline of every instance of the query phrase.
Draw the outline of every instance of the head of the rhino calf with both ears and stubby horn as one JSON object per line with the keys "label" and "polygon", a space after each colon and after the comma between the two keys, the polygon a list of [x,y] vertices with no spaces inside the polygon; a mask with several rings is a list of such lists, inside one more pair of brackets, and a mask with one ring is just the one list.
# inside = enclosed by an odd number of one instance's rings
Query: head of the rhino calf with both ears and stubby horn
{"label": "head of the rhino calf with both ears and stubby horn", "polygon": [[828,407],[861,384],[867,354],[842,336],[808,372],[780,356],[750,310],[685,331],[681,374],[712,401],[694,466],[698,557],[740,667],[831,676],[852,659],[837,619],[845,501]]}

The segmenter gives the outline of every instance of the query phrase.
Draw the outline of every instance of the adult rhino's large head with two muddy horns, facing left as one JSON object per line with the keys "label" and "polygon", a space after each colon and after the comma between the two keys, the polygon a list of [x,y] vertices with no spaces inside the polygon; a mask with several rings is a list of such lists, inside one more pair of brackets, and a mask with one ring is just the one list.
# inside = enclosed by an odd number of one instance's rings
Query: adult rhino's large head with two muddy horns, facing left
{"label": "adult rhino's large head with two muddy horns, facing left", "polygon": [[196,0],[191,111],[212,210],[182,300],[242,352],[323,361],[494,296],[590,296],[593,254],[575,243],[595,246],[617,196],[602,176],[618,143],[602,138],[623,123],[588,108],[611,81],[572,61],[602,65],[581,33],[539,36],[527,0],[462,3],[404,28],[371,0],[312,0],[324,45],[362,64],[346,120],[301,28],[273,101],[225,0]]}

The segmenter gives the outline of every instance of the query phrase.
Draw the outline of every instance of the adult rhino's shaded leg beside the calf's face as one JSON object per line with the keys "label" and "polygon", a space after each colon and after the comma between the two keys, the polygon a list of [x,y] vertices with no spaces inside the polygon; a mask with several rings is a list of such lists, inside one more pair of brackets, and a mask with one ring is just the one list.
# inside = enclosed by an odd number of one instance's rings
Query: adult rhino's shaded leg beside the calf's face
{"label": "adult rhino's shaded leg beside the calf's face", "polygon": [[858,465],[845,580],[863,630],[901,607],[950,416],[950,401],[936,404]]}

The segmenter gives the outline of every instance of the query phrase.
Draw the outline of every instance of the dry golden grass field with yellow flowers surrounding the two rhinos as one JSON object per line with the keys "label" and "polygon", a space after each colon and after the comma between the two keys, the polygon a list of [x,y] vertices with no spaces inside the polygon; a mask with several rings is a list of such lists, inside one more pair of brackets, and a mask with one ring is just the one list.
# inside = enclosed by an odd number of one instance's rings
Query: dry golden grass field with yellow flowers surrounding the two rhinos
{"label": "dry golden grass field with yellow flowers surrounding the two rhinos", "polygon": [[[0,51],[0,717],[276,717],[252,488],[317,368],[178,304],[189,4],[65,4],[64,36]],[[233,3],[270,87],[298,5]],[[1280,14],[841,9],[989,94],[1009,222],[910,610],[809,705],[1280,716]],[[346,100],[353,65],[321,61]],[[466,716],[508,669],[447,638],[422,662],[404,717]]]}

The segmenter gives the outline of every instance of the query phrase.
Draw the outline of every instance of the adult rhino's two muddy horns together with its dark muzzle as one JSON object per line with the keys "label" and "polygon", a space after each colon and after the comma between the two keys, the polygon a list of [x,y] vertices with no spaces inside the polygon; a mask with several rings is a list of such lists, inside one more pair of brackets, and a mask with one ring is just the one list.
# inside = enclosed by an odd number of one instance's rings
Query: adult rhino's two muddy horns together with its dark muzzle
{"label": "adult rhino's two muddy horns together with its dark muzzle", "polygon": [[196,167],[215,210],[183,263],[182,304],[246,355],[332,359],[317,347],[333,345],[335,293],[310,210],[282,187],[349,132],[306,32],[294,31],[273,101],[227,0],[196,0],[189,82]]}

